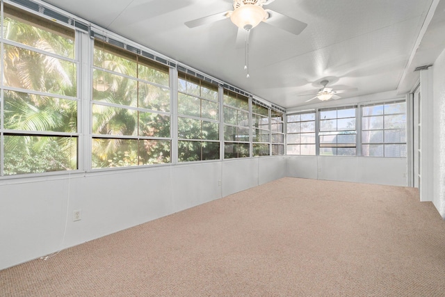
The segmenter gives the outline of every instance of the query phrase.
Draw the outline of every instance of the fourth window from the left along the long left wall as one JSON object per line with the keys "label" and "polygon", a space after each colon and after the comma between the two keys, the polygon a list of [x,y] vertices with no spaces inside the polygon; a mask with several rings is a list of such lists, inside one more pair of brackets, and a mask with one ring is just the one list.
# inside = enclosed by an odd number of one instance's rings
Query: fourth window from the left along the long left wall
{"label": "fourth window from the left along the long left wall", "polygon": [[224,90],[224,159],[250,156],[249,98]]}

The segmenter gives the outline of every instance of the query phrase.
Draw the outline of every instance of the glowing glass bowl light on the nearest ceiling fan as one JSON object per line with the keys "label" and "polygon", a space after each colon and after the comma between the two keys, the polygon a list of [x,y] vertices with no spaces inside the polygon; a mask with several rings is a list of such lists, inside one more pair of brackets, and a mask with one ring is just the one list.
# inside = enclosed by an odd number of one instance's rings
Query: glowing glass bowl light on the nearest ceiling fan
{"label": "glowing glass bowl light on the nearest ceiling fan", "polygon": [[238,28],[250,30],[261,21],[267,19],[268,13],[261,6],[245,4],[236,8],[230,15],[230,20]]}

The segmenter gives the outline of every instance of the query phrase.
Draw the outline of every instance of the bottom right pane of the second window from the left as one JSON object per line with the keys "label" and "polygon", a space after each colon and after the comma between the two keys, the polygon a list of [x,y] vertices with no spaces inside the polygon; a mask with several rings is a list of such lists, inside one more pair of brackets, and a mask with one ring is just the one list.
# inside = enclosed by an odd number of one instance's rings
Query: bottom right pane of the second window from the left
{"label": "bottom right pane of the second window from the left", "polygon": [[170,141],[139,140],[139,165],[170,163]]}

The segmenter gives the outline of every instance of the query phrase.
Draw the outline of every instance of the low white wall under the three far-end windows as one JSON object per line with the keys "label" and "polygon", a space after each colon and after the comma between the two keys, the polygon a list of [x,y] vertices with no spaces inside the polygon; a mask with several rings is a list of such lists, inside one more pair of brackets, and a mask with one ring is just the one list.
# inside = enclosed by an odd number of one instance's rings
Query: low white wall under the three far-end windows
{"label": "low white wall under the three far-end windows", "polygon": [[407,186],[405,158],[286,156],[289,177]]}

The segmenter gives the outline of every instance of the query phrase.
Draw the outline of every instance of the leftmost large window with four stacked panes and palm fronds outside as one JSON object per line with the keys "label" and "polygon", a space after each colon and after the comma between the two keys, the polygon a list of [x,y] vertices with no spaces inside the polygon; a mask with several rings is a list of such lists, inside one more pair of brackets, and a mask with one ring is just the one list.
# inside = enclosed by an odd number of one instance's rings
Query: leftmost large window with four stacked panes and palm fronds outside
{"label": "leftmost large window with four stacked panes and palm fronds outside", "polygon": [[74,30],[3,5],[1,175],[76,170]]}

